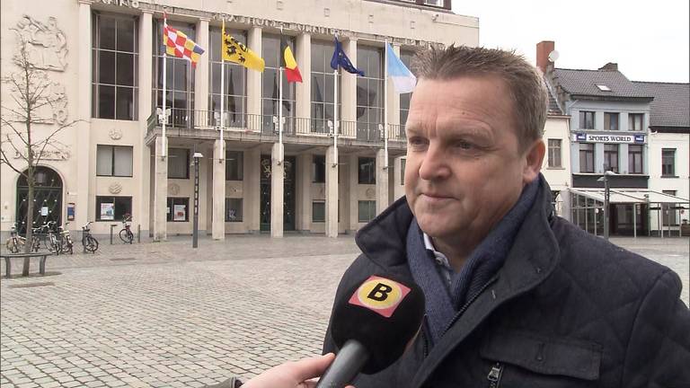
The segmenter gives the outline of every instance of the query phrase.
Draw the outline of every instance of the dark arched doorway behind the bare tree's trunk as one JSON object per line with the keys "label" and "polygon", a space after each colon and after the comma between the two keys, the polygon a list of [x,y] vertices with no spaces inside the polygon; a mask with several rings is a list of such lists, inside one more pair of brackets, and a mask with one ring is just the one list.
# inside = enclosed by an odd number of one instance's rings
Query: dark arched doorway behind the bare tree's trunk
{"label": "dark arched doorway behind the bare tree's trunk", "polygon": [[[62,179],[55,170],[39,166],[33,172],[36,184],[33,190],[33,227],[49,221],[62,225]],[[20,176],[17,181],[17,231],[26,234],[27,196],[29,183]]]}

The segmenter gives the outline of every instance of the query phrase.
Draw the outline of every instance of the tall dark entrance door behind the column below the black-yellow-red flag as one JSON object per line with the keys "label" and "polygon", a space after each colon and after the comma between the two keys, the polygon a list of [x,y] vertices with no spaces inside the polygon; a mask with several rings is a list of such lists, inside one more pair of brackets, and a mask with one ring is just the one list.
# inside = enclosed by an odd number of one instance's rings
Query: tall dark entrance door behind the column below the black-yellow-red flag
{"label": "tall dark entrance door behind the column below the black-yellow-red flag", "polygon": [[[296,156],[285,156],[283,176],[283,230],[294,231],[296,227]],[[270,155],[261,155],[261,232],[270,231]]]}

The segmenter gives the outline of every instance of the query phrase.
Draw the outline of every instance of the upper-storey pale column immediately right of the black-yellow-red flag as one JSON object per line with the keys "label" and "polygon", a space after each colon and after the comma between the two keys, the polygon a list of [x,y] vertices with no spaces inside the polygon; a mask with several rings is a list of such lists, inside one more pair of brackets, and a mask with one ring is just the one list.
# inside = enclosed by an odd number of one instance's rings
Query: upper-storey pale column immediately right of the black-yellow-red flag
{"label": "upper-storey pale column immediately right of the black-yellow-red flag", "polygon": [[312,36],[299,34],[296,39],[296,61],[299,72],[302,74],[302,82],[295,84],[296,121],[297,133],[309,133],[309,119],[311,117],[312,104]]}

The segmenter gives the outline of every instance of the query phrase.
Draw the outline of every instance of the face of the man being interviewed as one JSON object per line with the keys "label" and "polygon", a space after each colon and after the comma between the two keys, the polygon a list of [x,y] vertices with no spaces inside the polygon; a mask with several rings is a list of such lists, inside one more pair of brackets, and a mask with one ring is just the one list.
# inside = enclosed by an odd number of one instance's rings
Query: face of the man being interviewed
{"label": "face of the man being interviewed", "polygon": [[405,196],[422,231],[481,241],[517,202],[538,167],[531,171],[520,152],[514,116],[508,87],[496,76],[417,84],[406,125]]}

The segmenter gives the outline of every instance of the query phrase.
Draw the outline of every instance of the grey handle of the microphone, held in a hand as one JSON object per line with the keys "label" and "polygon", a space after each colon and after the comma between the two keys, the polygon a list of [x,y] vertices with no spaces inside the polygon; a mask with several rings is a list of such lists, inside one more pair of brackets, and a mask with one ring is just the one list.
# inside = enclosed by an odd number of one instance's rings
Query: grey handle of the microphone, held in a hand
{"label": "grey handle of the microphone, held in a hand", "polygon": [[369,359],[369,352],[356,340],[348,340],[319,379],[316,388],[343,388],[354,380]]}

